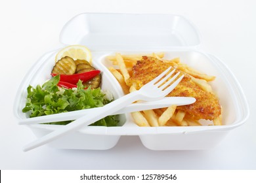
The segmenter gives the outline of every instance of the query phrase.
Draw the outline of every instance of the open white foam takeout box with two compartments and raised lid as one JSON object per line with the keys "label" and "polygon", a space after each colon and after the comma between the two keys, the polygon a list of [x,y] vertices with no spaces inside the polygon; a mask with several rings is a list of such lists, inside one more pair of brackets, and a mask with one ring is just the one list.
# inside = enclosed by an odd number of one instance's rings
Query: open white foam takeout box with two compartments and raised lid
{"label": "open white foam takeout box with two compartments and raised lid", "polygon": [[[102,90],[109,90],[114,98],[123,92],[107,67],[106,56],[165,52],[165,58],[179,57],[183,63],[216,76],[211,83],[223,107],[223,125],[188,127],[139,127],[131,114],[120,116],[118,127],[83,127],[49,143],[54,148],[106,150],[114,147],[121,135],[138,135],[151,150],[200,150],[218,144],[227,133],[244,124],[249,109],[242,88],[224,63],[198,48],[200,35],[186,18],[173,14],[98,14],[85,13],[72,18],[60,33],[63,47],[70,44],[87,46],[93,65],[102,71]],[[60,50],[60,49],[58,49]],[[25,76],[14,104],[18,120],[28,118],[22,113],[26,104],[26,88],[48,80],[58,50],[44,54]],[[61,125],[28,125],[36,137],[42,137]],[[129,144],[127,144],[129,146]]]}

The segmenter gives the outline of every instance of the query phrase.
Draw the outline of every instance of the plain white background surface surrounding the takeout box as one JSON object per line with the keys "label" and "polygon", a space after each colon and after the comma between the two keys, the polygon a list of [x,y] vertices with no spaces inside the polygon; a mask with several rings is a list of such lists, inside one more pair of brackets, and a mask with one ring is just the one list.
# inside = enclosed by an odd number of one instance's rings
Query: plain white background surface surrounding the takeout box
{"label": "plain white background surface surrounding the takeout box", "polygon": [[[256,3],[244,1],[0,1],[0,169],[256,169]],[[139,137],[121,137],[104,151],[22,152],[35,137],[16,124],[14,95],[22,78],[45,52],[59,48],[62,26],[81,12],[181,14],[200,30],[200,48],[221,58],[248,99],[249,120],[212,150],[152,151]]]}

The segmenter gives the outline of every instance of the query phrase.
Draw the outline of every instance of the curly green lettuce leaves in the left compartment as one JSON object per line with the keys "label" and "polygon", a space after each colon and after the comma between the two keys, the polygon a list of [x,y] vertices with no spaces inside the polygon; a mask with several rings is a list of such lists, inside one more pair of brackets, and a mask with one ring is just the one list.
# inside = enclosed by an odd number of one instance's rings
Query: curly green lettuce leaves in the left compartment
{"label": "curly green lettuce leaves in the left compartment", "polygon": [[[57,86],[60,81],[60,75],[54,76],[42,86],[35,88],[28,86],[28,96],[26,106],[22,112],[28,112],[30,118],[57,114],[61,112],[70,112],[86,108],[102,107],[112,101],[107,99],[106,93],[100,88],[84,89],[81,80],[77,82],[77,88],[65,89]],[[49,124],[66,125],[72,121],[54,122]],[[106,116],[91,125],[116,126],[119,120],[117,115]]]}

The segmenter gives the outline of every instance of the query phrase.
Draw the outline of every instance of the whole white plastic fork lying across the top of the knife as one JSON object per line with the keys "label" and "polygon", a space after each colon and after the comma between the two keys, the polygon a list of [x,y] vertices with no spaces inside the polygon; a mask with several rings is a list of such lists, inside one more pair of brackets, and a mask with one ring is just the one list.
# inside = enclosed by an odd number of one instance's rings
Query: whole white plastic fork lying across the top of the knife
{"label": "whole white plastic fork lying across the top of the knife", "polygon": [[[123,97],[112,101],[108,105],[105,105],[101,108],[96,114],[88,114],[81,118],[78,118],[74,122],[64,125],[60,129],[57,129],[33,142],[24,146],[23,150],[26,152],[28,150],[32,150],[33,148],[37,148],[42,146],[43,144],[47,144],[48,142],[54,141],[67,133],[76,131],[82,126],[93,124],[94,122],[116,112],[117,110],[133,103],[137,100],[144,101],[154,101],[157,99],[161,99],[165,97],[168,93],[170,93],[176,86],[181,82],[184,75],[179,76],[180,73],[177,73],[175,76],[171,77],[175,72],[175,69],[168,73],[172,67],[169,67],[165,70],[161,75],[154,78],[154,80],[148,82],[140,90],[124,95]],[[168,73],[168,74],[167,74]],[[166,75],[167,74],[167,75]],[[166,75],[166,76],[165,76]],[[163,78],[163,76],[165,76]],[[175,80],[177,78],[177,80]],[[169,80],[168,80],[169,79]],[[173,82],[175,80],[175,82]],[[164,83],[165,82],[165,83]],[[171,84],[173,82],[173,84]],[[171,85],[170,85],[171,84]]]}

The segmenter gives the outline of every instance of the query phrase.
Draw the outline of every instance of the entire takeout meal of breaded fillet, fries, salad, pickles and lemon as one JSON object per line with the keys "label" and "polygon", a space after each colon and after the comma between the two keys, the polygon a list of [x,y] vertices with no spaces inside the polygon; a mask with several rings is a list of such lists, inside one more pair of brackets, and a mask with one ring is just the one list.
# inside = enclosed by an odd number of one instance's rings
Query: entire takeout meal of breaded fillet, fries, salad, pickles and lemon
{"label": "entire takeout meal of breaded fillet, fries, salad, pickles and lemon", "polygon": [[[215,76],[205,75],[182,63],[179,58],[165,59],[164,53],[141,55],[108,56],[113,67],[109,71],[119,82],[123,93],[139,90],[168,67],[184,75],[177,87],[167,97],[194,97],[195,103],[184,106],[171,105],[132,112],[135,123],[141,127],[222,125],[219,99],[209,82]],[[108,99],[100,89],[100,70],[91,65],[91,52],[81,45],[71,45],[56,54],[55,65],[50,80],[42,86],[28,86],[28,96],[23,112],[30,117],[69,112],[85,108],[102,107],[113,99]],[[50,73],[49,73],[50,74]],[[210,122],[203,124],[202,120]],[[56,124],[68,124],[58,122]],[[51,123],[54,124],[54,123]],[[93,125],[118,125],[117,116],[107,116]]]}

